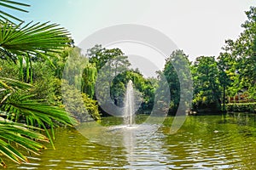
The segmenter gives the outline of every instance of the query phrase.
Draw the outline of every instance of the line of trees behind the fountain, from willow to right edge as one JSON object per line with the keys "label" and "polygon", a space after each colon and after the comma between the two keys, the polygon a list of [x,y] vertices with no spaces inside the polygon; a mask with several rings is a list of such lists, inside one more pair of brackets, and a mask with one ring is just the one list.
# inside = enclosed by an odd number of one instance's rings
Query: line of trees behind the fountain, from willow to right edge
{"label": "line of trees behind the fountain, from willow to right edge", "polygon": [[[175,115],[179,107],[183,107],[184,111],[225,111],[228,97],[236,94],[246,96],[244,102],[255,101],[255,13],[254,7],[246,12],[248,20],[241,25],[244,31],[236,40],[226,40],[217,57],[200,56],[190,62],[187,54],[176,50],[166,59],[164,70],[157,71],[158,77],[145,78],[138,70],[130,69],[131,64],[121,49],[96,45],[88,49],[89,64],[84,69],[82,91],[96,99],[95,87],[106,88],[98,94],[98,102],[104,100],[106,105],[122,106],[125,86],[132,80],[134,88],[143,98],[140,111],[150,112],[158,82],[164,75],[170,88],[171,115]],[[104,83],[97,86],[96,77]],[[192,82],[194,89],[186,86]],[[110,98],[107,97],[108,87]],[[192,93],[192,105],[189,105]]]}

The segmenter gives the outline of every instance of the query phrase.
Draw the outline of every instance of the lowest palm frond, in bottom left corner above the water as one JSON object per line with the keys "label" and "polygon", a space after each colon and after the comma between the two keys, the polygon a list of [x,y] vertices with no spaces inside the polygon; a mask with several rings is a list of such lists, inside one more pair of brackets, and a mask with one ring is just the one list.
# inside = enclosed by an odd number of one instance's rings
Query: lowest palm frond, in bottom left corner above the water
{"label": "lowest palm frond, in bottom left corner above the water", "polygon": [[[7,156],[10,160],[16,163],[22,161],[28,161],[26,156],[16,150],[12,144],[17,144],[32,153],[38,154],[38,152],[44,149],[44,145],[38,143],[38,141],[49,142],[43,134],[35,132],[33,129],[37,127],[29,127],[21,123],[10,122],[8,120],[0,120],[0,152],[3,156]],[[0,158],[0,165],[6,167],[6,164]]]}

